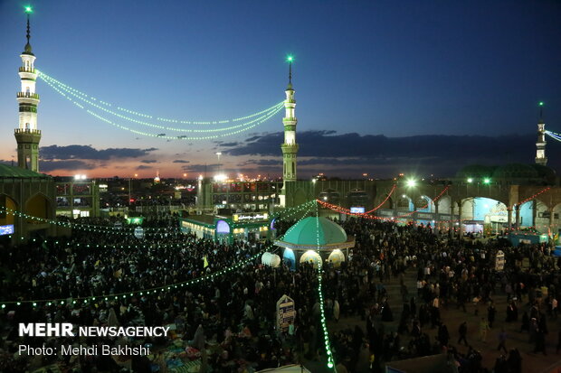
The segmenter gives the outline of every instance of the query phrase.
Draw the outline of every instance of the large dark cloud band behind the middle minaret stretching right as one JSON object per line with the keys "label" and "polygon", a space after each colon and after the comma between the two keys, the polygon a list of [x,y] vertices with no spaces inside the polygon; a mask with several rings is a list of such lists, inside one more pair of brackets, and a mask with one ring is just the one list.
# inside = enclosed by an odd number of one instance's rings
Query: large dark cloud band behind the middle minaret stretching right
{"label": "large dark cloud band behind the middle minaret stretching right", "polygon": [[[239,165],[255,165],[259,170],[271,170],[275,164],[281,165],[280,144],[283,140],[282,132],[252,135],[223,153],[253,156]],[[462,166],[473,163],[534,163],[536,152],[535,134],[386,137],[304,131],[297,134],[297,142],[300,145],[300,176],[322,172],[344,177],[358,177],[362,173],[389,177],[400,172],[453,176]],[[559,153],[557,147],[550,146],[547,150],[550,159],[548,165],[554,168],[561,165],[561,157],[552,156],[554,152]],[[264,159],[254,158],[260,156]],[[281,168],[276,172],[281,173]]]}

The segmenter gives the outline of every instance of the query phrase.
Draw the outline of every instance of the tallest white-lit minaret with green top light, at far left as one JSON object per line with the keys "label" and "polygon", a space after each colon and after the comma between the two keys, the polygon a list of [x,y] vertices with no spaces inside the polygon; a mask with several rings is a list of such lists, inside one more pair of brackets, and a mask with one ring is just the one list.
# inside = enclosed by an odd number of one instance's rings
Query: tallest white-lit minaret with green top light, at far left
{"label": "tallest white-lit minaret with green top light, at far left", "polygon": [[20,55],[22,67],[19,69],[22,89],[17,92],[19,103],[19,127],[15,128],[14,135],[17,141],[17,165],[21,168],[39,172],[39,141],[41,131],[37,129],[37,105],[39,95],[35,93],[35,80],[37,71],[33,66],[35,56],[31,50],[29,27],[29,14],[33,13],[31,6],[25,7],[27,14],[27,44]]}

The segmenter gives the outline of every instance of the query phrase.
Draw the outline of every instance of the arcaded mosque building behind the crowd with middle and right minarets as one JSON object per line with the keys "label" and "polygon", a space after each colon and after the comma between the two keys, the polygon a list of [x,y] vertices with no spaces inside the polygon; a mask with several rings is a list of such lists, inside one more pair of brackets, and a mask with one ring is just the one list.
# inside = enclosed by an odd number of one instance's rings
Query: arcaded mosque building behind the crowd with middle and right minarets
{"label": "arcaded mosque building behind the crowd with middle and right minarets", "polygon": [[[370,212],[379,219],[415,222],[463,233],[505,233],[533,230],[551,236],[561,230],[559,178],[547,167],[546,125],[537,123],[535,163],[498,166],[468,165],[456,175],[436,180],[298,180],[298,119],[292,64],[285,89],[282,182],[199,180],[197,210],[231,209],[246,213],[293,208],[309,200],[323,202],[322,213],[342,219]],[[328,206],[337,206],[333,215]]]}

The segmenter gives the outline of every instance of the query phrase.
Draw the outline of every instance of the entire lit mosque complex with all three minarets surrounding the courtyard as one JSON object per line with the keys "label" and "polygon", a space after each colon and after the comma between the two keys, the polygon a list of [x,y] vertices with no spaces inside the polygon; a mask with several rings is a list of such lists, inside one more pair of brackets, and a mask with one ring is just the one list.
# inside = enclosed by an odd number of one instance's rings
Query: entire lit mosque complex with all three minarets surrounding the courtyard
{"label": "entire lit mosque complex with all three minarets surrounding the courtyard", "polygon": [[[19,123],[14,130],[17,142],[17,167],[0,166],[0,237],[29,238],[52,233],[41,219],[56,215],[97,216],[99,186],[85,177],[54,181],[39,173],[38,126],[39,94],[31,45],[31,9],[27,11],[26,44],[20,57],[21,89],[16,94]],[[368,212],[378,219],[416,222],[433,228],[463,232],[504,233],[533,229],[555,236],[561,230],[561,188],[556,173],[547,167],[546,124],[541,105],[537,123],[536,157],[533,164],[506,164],[495,167],[470,165],[445,180],[299,180],[296,99],[289,59],[289,82],[282,118],[284,141],[281,144],[282,181],[201,179],[197,185],[196,210],[200,215],[259,217],[290,209],[309,200],[322,203],[321,214],[346,218]],[[155,179],[155,182],[158,181]],[[328,207],[337,207],[338,213]],[[9,210],[21,215],[11,215]],[[336,209],[336,210],[337,210]],[[227,211],[229,210],[229,211]],[[242,215],[241,215],[242,214]],[[39,219],[31,219],[35,217]],[[249,219],[249,218],[248,218]],[[213,221],[214,223],[214,221]],[[264,234],[268,221],[261,221],[255,234]],[[236,222],[235,224],[241,224]],[[237,227],[237,226],[236,226]],[[208,228],[208,227],[207,227]],[[236,234],[247,236],[237,227]],[[261,230],[260,230],[261,229]],[[253,232],[252,232],[253,233]]]}

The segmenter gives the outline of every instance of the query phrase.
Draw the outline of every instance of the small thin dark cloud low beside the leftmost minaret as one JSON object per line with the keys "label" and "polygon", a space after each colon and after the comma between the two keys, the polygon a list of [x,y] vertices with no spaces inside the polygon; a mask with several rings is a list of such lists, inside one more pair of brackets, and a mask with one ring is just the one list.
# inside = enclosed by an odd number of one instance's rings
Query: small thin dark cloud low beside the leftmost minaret
{"label": "small thin dark cloud low beside the leftmost minaret", "polygon": [[157,148],[138,149],[138,148],[108,148],[95,149],[90,145],[50,145],[43,146],[39,154],[44,160],[66,160],[66,159],[89,159],[89,160],[109,160],[115,158],[138,158],[146,156]]}

